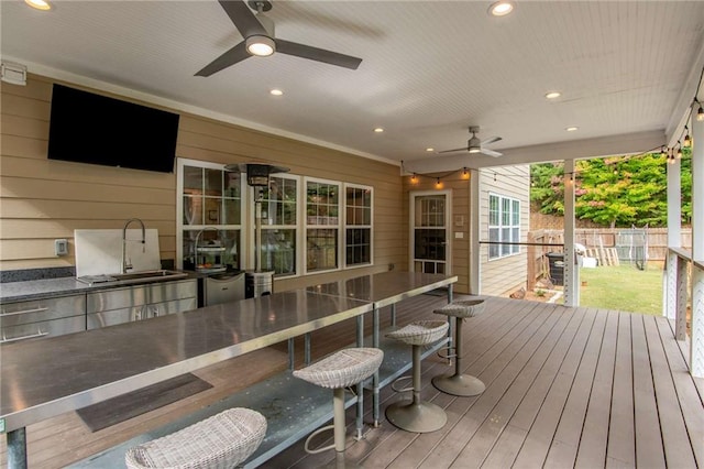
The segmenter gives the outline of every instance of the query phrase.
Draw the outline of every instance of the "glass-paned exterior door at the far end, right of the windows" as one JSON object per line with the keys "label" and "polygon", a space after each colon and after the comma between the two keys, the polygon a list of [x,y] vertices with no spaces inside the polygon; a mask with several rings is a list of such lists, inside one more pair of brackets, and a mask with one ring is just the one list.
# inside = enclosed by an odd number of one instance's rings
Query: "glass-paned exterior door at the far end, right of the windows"
{"label": "glass-paned exterior door at the far end, right of the windows", "polygon": [[410,193],[410,265],[413,272],[448,273],[449,190]]}

